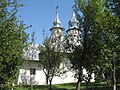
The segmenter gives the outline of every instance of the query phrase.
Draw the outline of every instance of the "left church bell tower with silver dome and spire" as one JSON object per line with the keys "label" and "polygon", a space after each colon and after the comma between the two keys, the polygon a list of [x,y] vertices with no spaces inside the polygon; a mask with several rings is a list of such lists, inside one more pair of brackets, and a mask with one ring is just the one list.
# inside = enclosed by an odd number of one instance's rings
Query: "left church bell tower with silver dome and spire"
{"label": "left church bell tower with silver dome and spire", "polygon": [[58,6],[56,7],[56,17],[53,21],[53,26],[50,29],[51,31],[51,36],[50,36],[50,42],[51,42],[51,46],[58,48],[61,47],[62,41],[64,39],[63,36],[63,30],[64,28],[60,26],[61,22],[59,19],[59,15],[58,15]]}

